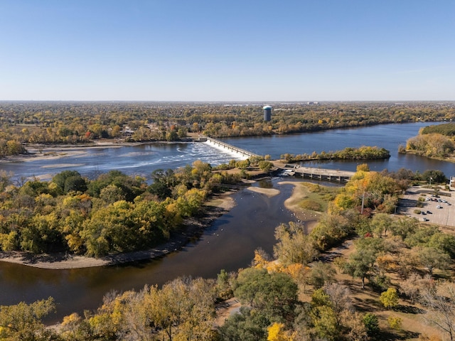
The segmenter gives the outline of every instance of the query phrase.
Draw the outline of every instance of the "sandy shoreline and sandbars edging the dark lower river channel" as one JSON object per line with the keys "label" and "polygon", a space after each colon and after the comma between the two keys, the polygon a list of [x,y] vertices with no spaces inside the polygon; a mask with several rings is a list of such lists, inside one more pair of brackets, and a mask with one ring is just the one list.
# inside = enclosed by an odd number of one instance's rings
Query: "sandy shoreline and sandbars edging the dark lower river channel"
{"label": "sandy shoreline and sandbars edging the dark lower river channel", "polygon": [[[284,201],[284,206],[288,210],[294,212],[294,215],[306,224],[308,233],[316,225],[317,215],[308,215],[307,212],[301,210],[296,205],[296,202],[301,197],[304,188],[299,186],[299,181],[282,181],[279,184],[294,185],[292,194],[287,200]],[[254,190],[257,193],[262,193],[267,196],[274,196],[279,193],[279,190],[274,188],[245,188],[247,190]],[[174,234],[171,239],[151,249],[143,251],[132,251],[124,254],[112,254],[100,259],[75,256],[66,253],[58,254],[41,254],[33,255],[21,251],[0,252],[0,261],[6,263],[21,264],[23,266],[33,266],[40,269],[82,269],[97,266],[114,266],[118,264],[134,263],[135,261],[150,261],[157,259],[166,254],[178,251],[184,247],[191,239],[200,237],[204,230],[210,227],[215,220],[220,216],[228,213],[235,207],[235,201],[232,198],[234,191],[230,190],[219,195],[214,195],[208,202],[205,203],[205,210],[203,215],[196,218],[186,220],[186,228],[182,232]]]}

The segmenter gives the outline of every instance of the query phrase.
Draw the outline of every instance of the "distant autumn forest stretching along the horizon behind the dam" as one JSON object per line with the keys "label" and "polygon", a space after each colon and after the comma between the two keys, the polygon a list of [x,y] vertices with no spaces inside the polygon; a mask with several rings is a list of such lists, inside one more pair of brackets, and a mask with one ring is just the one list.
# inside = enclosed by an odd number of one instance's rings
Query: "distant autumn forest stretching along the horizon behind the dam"
{"label": "distant autumn forest stretching along the horizon behind the dam", "polygon": [[290,134],[373,124],[449,121],[453,102],[271,103],[0,102],[0,157],[27,144],[176,141],[188,133],[222,136]]}

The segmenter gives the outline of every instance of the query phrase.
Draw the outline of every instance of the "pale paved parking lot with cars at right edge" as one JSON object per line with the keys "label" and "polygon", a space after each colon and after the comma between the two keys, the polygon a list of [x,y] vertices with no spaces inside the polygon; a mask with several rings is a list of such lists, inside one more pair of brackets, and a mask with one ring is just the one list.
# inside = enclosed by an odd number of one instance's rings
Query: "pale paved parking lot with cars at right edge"
{"label": "pale paved parking lot with cars at right edge", "polygon": [[[451,192],[446,190],[439,190],[438,194],[436,197],[433,190],[419,186],[408,188],[406,194],[400,199],[398,212],[416,217],[420,222],[427,221],[455,227],[455,195],[451,196]],[[423,207],[417,207],[419,197],[424,199]],[[425,214],[417,215],[414,210],[420,210]]]}

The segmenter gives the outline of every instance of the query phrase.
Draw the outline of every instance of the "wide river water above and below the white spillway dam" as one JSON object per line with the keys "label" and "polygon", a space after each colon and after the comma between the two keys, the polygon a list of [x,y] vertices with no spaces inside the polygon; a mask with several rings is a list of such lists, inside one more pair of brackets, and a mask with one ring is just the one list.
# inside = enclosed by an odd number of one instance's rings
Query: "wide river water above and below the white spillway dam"
{"label": "wide river water above and below the white spillway dam", "polygon": [[[369,161],[370,169],[412,171],[438,169],[446,176],[455,175],[455,165],[444,161],[397,153],[400,144],[418,134],[427,123],[387,124],[358,129],[336,129],[308,134],[223,139],[259,155],[279,158],[283,153],[336,151],[346,146],[378,146],[390,151],[387,161]],[[235,158],[207,144],[147,144],[119,148],[87,148],[76,156],[59,159],[0,163],[0,169],[11,171],[14,178],[53,175],[64,170],[77,170],[94,178],[99,173],[117,169],[127,174],[144,175],[158,168],[178,168],[200,159],[213,165]],[[355,171],[358,162],[312,163],[321,168]],[[139,290],[144,285],[163,284],[178,276],[215,277],[221,269],[234,271],[250,264],[254,250],[262,247],[272,253],[274,228],[281,222],[294,220],[284,208],[291,194],[290,185],[279,185],[272,179],[265,185],[281,191],[275,197],[242,190],[233,195],[237,205],[218,219],[205,234],[183,250],[164,258],[93,269],[45,270],[0,262],[0,305],[27,303],[53,296],[57,313],[48,322],[85,309],[95,309],[109,291]],[[259,184],[264,185],[264,184]]]}

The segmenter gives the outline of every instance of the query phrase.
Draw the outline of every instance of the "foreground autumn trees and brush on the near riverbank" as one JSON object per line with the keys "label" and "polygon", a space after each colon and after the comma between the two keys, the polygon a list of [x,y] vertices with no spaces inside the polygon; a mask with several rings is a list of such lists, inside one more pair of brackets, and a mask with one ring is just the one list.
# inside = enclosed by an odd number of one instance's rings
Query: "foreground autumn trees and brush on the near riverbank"
{"label": "foreground autumn trees and brush on the near riverbank", "polygon": [[[4,340],[453,340],[455,237],[410,217],[389,215],[397,196],[422,175],[368,166],[339,190],[303,183],[304,207],[330,200],[319,223],[280,224],[274,255],[216,279],[177,278],[162,288],[109,293],[96,311],[58,328],[41,318],[52,298],[0,308]],[[162,184],[165,185],[166,183]],[[166,188],[166,186],[164,186]],[[365,195],[368,193],[368,195]],[[303,204],[303,202],[305,202]],[[331,247],[354,240],[337,258]],[[342,248],[344,249],[344,248]],[[215,320],[235,297],[239,313]],[[416,323],[426,320],[428,325]],[[443,339],[444,337],[444,339]]]}

